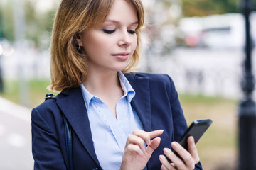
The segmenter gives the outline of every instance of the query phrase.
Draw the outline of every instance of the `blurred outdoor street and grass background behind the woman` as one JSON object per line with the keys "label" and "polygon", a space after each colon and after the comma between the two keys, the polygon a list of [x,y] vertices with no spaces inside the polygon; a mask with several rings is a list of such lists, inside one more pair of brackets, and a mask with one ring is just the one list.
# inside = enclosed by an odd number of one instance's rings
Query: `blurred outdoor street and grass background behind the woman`
{"label": "blurred outdoor street and grass background behind the woman", "polygon": [[[31,108],[50,91],[50,35],[59,0],[0,1],[0,169],[33,169]],[[143,0],[139,71],[169,74],[188,125],[210,118],[198,142],[204,169],[238,167],[245,61],[242,0]],[[255,73],[256,0],[250,7]],[[252,99],[256,94],[252,93]]]}

